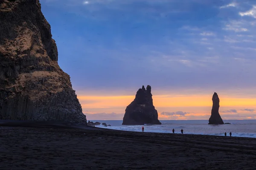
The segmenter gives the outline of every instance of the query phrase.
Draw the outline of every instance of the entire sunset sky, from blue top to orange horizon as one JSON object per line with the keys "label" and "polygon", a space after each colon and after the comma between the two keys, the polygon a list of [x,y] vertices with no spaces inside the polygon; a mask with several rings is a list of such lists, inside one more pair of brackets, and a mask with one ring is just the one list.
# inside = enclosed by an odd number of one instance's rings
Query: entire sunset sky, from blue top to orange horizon
{"label": "entire sunset sky, from blue top to orange horizon", "polygon": [[255,0],[40,0],[88,120],[151,85],[160,120],[256,119]]}

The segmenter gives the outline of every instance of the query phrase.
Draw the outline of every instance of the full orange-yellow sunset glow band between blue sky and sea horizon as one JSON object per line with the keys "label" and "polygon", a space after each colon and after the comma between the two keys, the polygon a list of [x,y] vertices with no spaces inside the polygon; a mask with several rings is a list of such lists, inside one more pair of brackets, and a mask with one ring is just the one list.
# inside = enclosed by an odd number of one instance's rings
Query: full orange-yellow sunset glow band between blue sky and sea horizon
{"label": "full orange-yellow sunset glow band between blue sky and sea horizon", "polygon": [[[222,119],[240,119],[238,114],[251,113],[242,109],[250,108],[256,111],[256,99],[252,98],[234,98],[229,96],[220,97],[220,114]],[[125,108],[134,100],[135,96],[78,96],[83,112],[89,115],[96,113],[120,113],[122,119]],[[192,120],[192,119],[209,119],[212,108],[211,95],[156,95],[153,96],[153,103],[158,112],[160,120]],[[240,109],[236,113],[224,112],[230,109]],[[161,115],[162,112],[187,112],[186,115]],[[256,112],[254,112],[256,114]],[[110,114],[111,115],[111,114]],[[256,115],[255,115],[256,116]],[[254,115],[243,116],[244,119],[255,119]],[[101,119],[101,117],[97,117]],[[111,116],[108,118],[111,120]]]}

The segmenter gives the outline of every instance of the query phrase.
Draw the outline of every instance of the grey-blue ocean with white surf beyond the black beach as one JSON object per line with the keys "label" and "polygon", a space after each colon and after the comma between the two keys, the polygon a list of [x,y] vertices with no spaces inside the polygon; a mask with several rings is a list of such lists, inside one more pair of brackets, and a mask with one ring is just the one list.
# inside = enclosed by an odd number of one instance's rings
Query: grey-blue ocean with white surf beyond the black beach
{"label": "grey-blue ocean with white surf beyond the black beach", "polygon": [[[111,125],[104,127],[99,125],[97,127],[127,130],[141,132],[142,125],[122,125],[122,120],[92,120],[93,122],[106,123]],[[216,135],[224,136],[224,133],[232,132],[232,136],[256,138],[256,120],[223,120],[224,125],[208,125],[208,120],[160,120],[162,125],[144,125],[144,132],[158,132],[158,133],[181,133],[183,129],[184,134],[200,134],[200,135]]]}

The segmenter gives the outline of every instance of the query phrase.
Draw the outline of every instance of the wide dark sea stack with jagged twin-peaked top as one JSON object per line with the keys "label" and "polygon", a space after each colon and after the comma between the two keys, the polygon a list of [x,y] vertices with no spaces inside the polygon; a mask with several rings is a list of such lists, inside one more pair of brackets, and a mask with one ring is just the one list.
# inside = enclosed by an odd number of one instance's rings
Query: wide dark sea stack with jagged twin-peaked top
{"label": "wide dark sea stack with jagged twin-peaked top", "polygon": [[154,108],[151,86],[145,89],[144,85],[137,91],[135,99],[125,109],[122,125],[161,125],[157,110]]}

